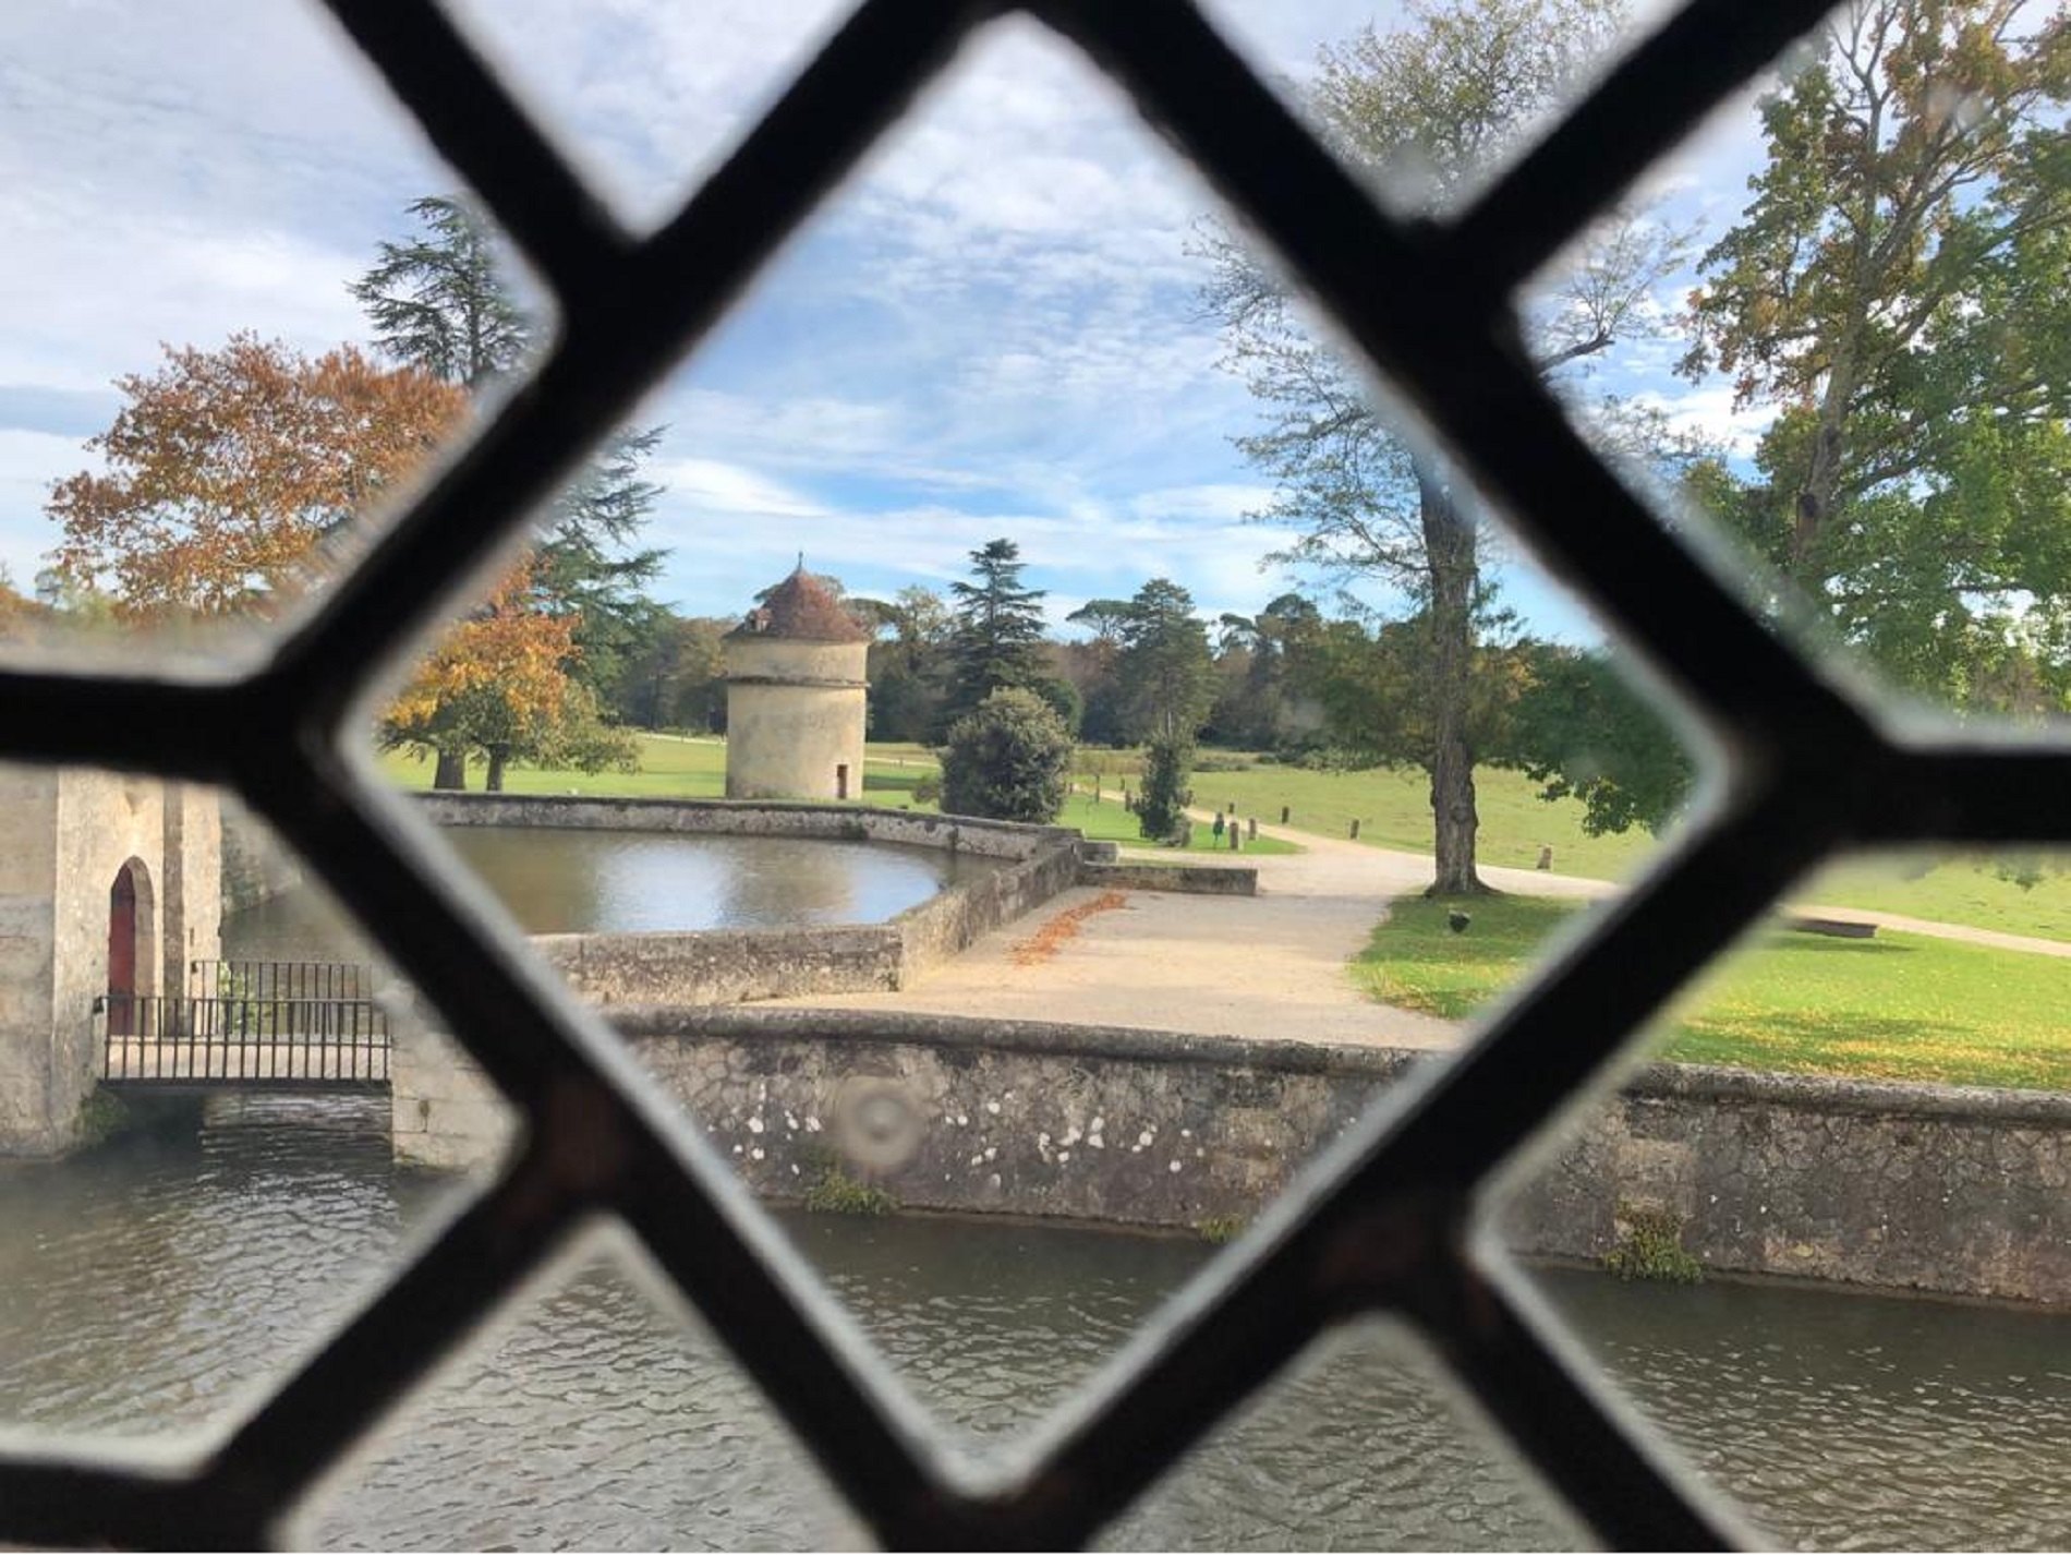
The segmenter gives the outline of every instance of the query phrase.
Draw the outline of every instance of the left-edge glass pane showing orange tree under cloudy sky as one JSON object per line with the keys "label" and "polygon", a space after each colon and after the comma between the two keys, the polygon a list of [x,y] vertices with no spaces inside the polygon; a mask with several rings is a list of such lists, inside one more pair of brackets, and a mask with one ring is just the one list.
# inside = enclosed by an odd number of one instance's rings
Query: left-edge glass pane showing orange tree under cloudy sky
{"label": "left-edge glass pane showing orange tree under cloudy sky", "polygon": [[[427,282],[383,269],[414,207],[468,203],[315,6],[10,10],[0,54],[8,642],[249,654],[524,356],[429,360],[371,309]],[[522,290],[468,244],[439,286]]]}

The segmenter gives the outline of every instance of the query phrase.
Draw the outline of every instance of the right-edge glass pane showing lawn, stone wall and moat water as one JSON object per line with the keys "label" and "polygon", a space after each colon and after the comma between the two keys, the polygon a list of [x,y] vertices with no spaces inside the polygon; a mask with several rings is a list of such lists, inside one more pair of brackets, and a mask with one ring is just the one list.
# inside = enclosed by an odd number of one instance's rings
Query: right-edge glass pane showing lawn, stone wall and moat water
{"label": "right-edge glass pane showing lawn, stone wall and moat water", "polygon": [[[1831,905],[1856,890],[1916,911]],[[2052,1538],[2061,890],[2057,855],[1839,861],[1506,1209],[1632,1402],[1791,1543]]]}

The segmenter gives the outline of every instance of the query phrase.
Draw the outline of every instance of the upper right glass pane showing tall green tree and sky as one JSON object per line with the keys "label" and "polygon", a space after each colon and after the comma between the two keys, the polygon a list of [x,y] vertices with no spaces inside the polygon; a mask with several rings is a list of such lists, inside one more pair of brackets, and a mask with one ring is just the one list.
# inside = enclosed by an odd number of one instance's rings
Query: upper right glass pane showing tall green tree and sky
{"label": "upper right glass pane showing tall green tree and sky", "polygon": [[1837,10],[1657,170],[1653,352],[1564,383],[1750,611],[1943,725],[2071,698],[2050,50],[2019,8]]}

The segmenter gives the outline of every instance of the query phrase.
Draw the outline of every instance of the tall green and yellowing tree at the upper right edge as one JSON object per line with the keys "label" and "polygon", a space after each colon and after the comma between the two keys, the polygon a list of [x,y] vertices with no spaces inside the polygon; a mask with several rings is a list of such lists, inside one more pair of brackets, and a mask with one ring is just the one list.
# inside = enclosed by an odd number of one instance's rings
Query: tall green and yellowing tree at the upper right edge
{"label": "tall green and yellowing tree at the upper right edge", "polygon": [[1777,406],[1725,520],[1955,702],[2071,582],[2067,99],[2061,10],[1843,6],[1762,101],[1767,164],[1692,296],[1684,369]]}

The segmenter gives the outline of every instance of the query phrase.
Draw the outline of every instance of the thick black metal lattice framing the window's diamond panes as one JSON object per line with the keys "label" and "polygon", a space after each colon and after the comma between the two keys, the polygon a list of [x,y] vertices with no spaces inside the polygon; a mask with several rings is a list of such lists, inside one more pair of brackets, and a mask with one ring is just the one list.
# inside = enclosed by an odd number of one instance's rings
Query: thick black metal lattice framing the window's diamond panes
{"label": "thick black metal lattice framing the window's diamond panes", "polygon": [[[888,1545],[1038,1545],[1104,1522],[1330,1325],[1417,1325],[1613,1545],[1735,1538],[1599,1396],[1483,1217],[1506,1164],[1630,1033],[1825,855],[2071,839],[2071,747],[1924,735],[1829,683],[1591,453],[1530,371],[1514,292],[1698,118],[1820,19],[1694,0],[1470,209],[1383,215],[1187,0],[870,0],[688,205],[634,236],[431,4],[329,0],[561,311],[522,393],[265,665],[224,683],[0,673],[0,758],[220,783],[323,870],[524,1118],[464,1211],[302,1371],[186,1464],[0,1456],[0,1541],[259,1545],[439,1356],[596,1215],[617,1215]],[[1205,1294],[1036,1443],[971,1483],[688,1122],[522,950],[472,921],[346,747],[385,656],[725,313],[959,41],[1021,10],[1077,43],[1243,211],[1373,369],[1719,737],[1725,795],[1456,1062],[1342,1139]]]}

